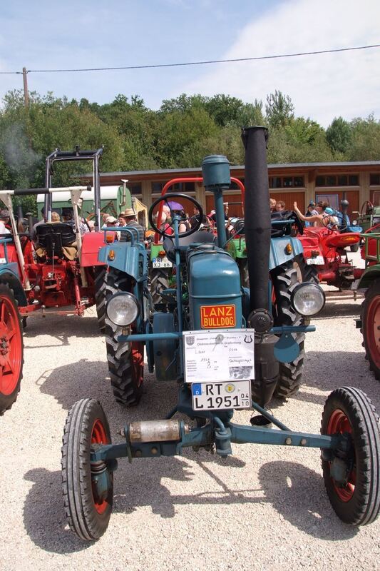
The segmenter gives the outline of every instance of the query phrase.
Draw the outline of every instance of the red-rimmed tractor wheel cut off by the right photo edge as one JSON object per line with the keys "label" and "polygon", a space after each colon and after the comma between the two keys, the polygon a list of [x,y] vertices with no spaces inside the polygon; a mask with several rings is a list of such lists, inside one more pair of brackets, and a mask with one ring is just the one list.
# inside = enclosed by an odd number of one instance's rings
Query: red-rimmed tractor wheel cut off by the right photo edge
{"label": "red-rimmed tractor wheel cut off by the right photo edge", "polygon": [[380,279],[375,280],[366,290],[361,304],[361,333],[369,369],[380,380]]}

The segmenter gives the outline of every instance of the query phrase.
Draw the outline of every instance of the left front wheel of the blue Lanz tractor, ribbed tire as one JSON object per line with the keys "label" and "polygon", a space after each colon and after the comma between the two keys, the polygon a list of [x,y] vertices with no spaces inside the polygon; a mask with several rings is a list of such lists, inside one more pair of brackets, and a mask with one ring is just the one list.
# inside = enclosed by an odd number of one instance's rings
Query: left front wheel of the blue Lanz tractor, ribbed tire
{"label": "left front wheel of the blue Lanz tractor, ribbed tire", "polygon": [[82,540],[98,540],[111,517],[113,472],[106,468],[109,482],[106,497],[98,497],[91,473],[91,445],[111,444],[111,434],[97,400],[83,398],[73,405],[66,418],[62,442],[62,491],[68,525]]}

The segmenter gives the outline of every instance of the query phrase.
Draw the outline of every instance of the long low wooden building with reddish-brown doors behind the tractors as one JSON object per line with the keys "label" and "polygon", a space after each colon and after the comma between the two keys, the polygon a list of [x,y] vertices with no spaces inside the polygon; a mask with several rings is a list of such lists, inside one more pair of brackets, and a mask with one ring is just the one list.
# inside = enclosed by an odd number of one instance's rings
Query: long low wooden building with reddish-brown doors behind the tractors
{"label": "long low wooden building with reddish-brown doors behind the tractors", "polygon": [[[244,170],[244,166],[232,166],[231,176],[244,182]],[[284,201],[289,210],[294,201],[303,212],[310,201],[326,200],[337,208],[342,198],[346,198],[352,213],[359,211],[365,201],[372,201],[374,191],[380,191],[380,161],[271,164],[268,171],[270,196]],[[101,173],[101,186],[118,185],[122,179],[128,179],[127,186],[133,195],[150,206],[170,179],[195,176],[202,176],[201,168]],[[213,208],[212,193],[205,192],[202,183],[180,183],[172,191],[194,196],[206,213]],[[230,216],[241,216],[240,191],[236,185],[232,184],[225,192],[225,201],[229,203]]]}

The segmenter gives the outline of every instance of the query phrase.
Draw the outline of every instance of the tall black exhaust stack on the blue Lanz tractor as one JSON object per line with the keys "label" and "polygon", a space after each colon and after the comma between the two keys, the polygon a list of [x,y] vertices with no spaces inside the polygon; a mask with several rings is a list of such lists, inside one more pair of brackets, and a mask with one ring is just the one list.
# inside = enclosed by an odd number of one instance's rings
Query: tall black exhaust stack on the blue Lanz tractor
{"label": "tall black exhaust stack on the blue Lanz tractor", "polygon": [[252,398],[265,406],[277,385],[279,363],[274,358],[278,338],[268,333],[273,325],[269,313],[269,251],[271,219],[265,127],[242,130],[245,146],[245,243],[250,276],[250,315],[255,329],[255,380]]}

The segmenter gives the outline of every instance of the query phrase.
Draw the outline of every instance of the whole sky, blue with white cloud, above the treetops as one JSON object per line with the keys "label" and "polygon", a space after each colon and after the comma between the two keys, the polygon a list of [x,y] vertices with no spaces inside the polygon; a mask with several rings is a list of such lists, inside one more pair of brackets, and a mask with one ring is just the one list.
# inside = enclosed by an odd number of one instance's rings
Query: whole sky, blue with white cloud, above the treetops
{"label": "whole sky, blue with white cloud, above the treetops", "polygon": [[[0,5],[0,71],[226,59],[380,44],[378,0],[13,0]],[[376,30],[377,28],[377,30]],[[39,94],[106,103],[123,93],[158,108],[181,93],[254,101],[280,89],[327,126],[380,118],[380,49],[184,68],[30,73]],[[0,75],[0,98],[22,76]]]}

